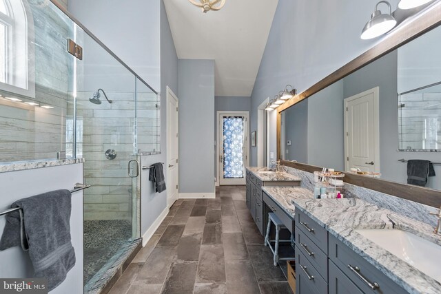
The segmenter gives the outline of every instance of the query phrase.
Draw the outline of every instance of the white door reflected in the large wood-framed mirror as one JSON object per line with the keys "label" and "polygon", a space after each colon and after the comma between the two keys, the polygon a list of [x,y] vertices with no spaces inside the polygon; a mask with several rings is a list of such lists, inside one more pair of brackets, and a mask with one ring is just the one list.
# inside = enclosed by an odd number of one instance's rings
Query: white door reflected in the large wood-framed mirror
{"label": "white door reflected in the large wood-framed mirror", "polygon": [[379,88],[345,99],[345,169],[380,172]]}

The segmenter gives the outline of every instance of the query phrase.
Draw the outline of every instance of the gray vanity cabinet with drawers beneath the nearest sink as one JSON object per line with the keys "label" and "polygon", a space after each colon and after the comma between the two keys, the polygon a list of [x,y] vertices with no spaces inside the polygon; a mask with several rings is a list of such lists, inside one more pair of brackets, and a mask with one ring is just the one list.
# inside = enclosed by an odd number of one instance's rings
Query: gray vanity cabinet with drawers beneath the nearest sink
{"label": "gray vanity cabinet with drawers beneath the nearest sink", "polygon": [[296,293],[407,293],[375,266],[296,211]]}

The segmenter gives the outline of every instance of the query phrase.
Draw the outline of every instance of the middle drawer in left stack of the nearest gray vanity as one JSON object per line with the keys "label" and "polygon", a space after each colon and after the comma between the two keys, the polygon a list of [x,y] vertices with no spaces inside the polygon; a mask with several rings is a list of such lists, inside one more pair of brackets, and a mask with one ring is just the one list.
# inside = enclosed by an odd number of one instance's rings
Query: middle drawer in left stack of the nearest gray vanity
{"label": "middle drawer in left stack of the nearest gray vanity", "polygon": [[301,230],[296,230],[296,245],[305,258],[322,275],[323,280],[328,280],[328,256],[309,239]]}

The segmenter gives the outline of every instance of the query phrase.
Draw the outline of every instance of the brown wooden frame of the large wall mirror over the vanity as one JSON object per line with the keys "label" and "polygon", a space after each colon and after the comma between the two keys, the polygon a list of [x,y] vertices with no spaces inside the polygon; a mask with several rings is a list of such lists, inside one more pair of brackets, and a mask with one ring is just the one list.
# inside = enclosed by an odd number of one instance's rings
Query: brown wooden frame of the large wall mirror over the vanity
{"label": "brown wooden frame of the large wall mirror over the vanity", "polygon": [[[433,6],[429,6],[427,9],[420,12],[416,19],[413,19],[410,23],[405,25],[405,28],[396,28],[387,38],[375,45],[373,48],[367,50],[365,53],[356,57],[352,61],[349,61],[346,65],[343,65],[335,72],[329,74],[318,83],[309,87],[289,101],[283,103],[278,108],[277,111],[277,158],[280,160],[281,165],[287,167],[293,167],[295,169],[300,169],[302,171],[308,171],[313,173],[314,171],[321,171],[322,167],[316,167],[314,165],[307,165],[300,162],[291,162],[287,160],[280,159],[280,138],[281,138],[281,112],[288,109],[291,106],[296,105],[300,101],[311,97],[320,90],[325,89],[329,85],[332,85],[336,81],[356,72],[360,68],[380,59],[382,56],[400,48],[400,46],[409,43],[413,39],[418,38],[422,34],[433,30],[441,24],[441,3],[435,2]],[[378,178],[370,178],[367,176],[360,176],[357,174],[349,174],[345,171],[345,182],[352,185],[357,185],[360,187],[365,187],[367,189],[372,189],[381,193],[387,193],[392,196],[400,197],[403,199],[411,200],[414,202],[419,202],[421,204],[426,204],[431,207],[440,208],[441,207],[441,191],[418,187],[408,184],[402,184],[399,182],[392,182],[389,180],[382,180]]]}

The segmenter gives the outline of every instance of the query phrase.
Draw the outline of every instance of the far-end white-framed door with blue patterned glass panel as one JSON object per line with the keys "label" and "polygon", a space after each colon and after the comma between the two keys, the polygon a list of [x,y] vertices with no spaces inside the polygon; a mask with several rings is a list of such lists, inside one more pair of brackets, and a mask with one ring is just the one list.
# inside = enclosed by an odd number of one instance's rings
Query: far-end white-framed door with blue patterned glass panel
{"label": "far-end white-framed door with blue patterned glass panel", "polygon": [[218,112],[220,185],[245,185],[248,165],[248,112]]}

